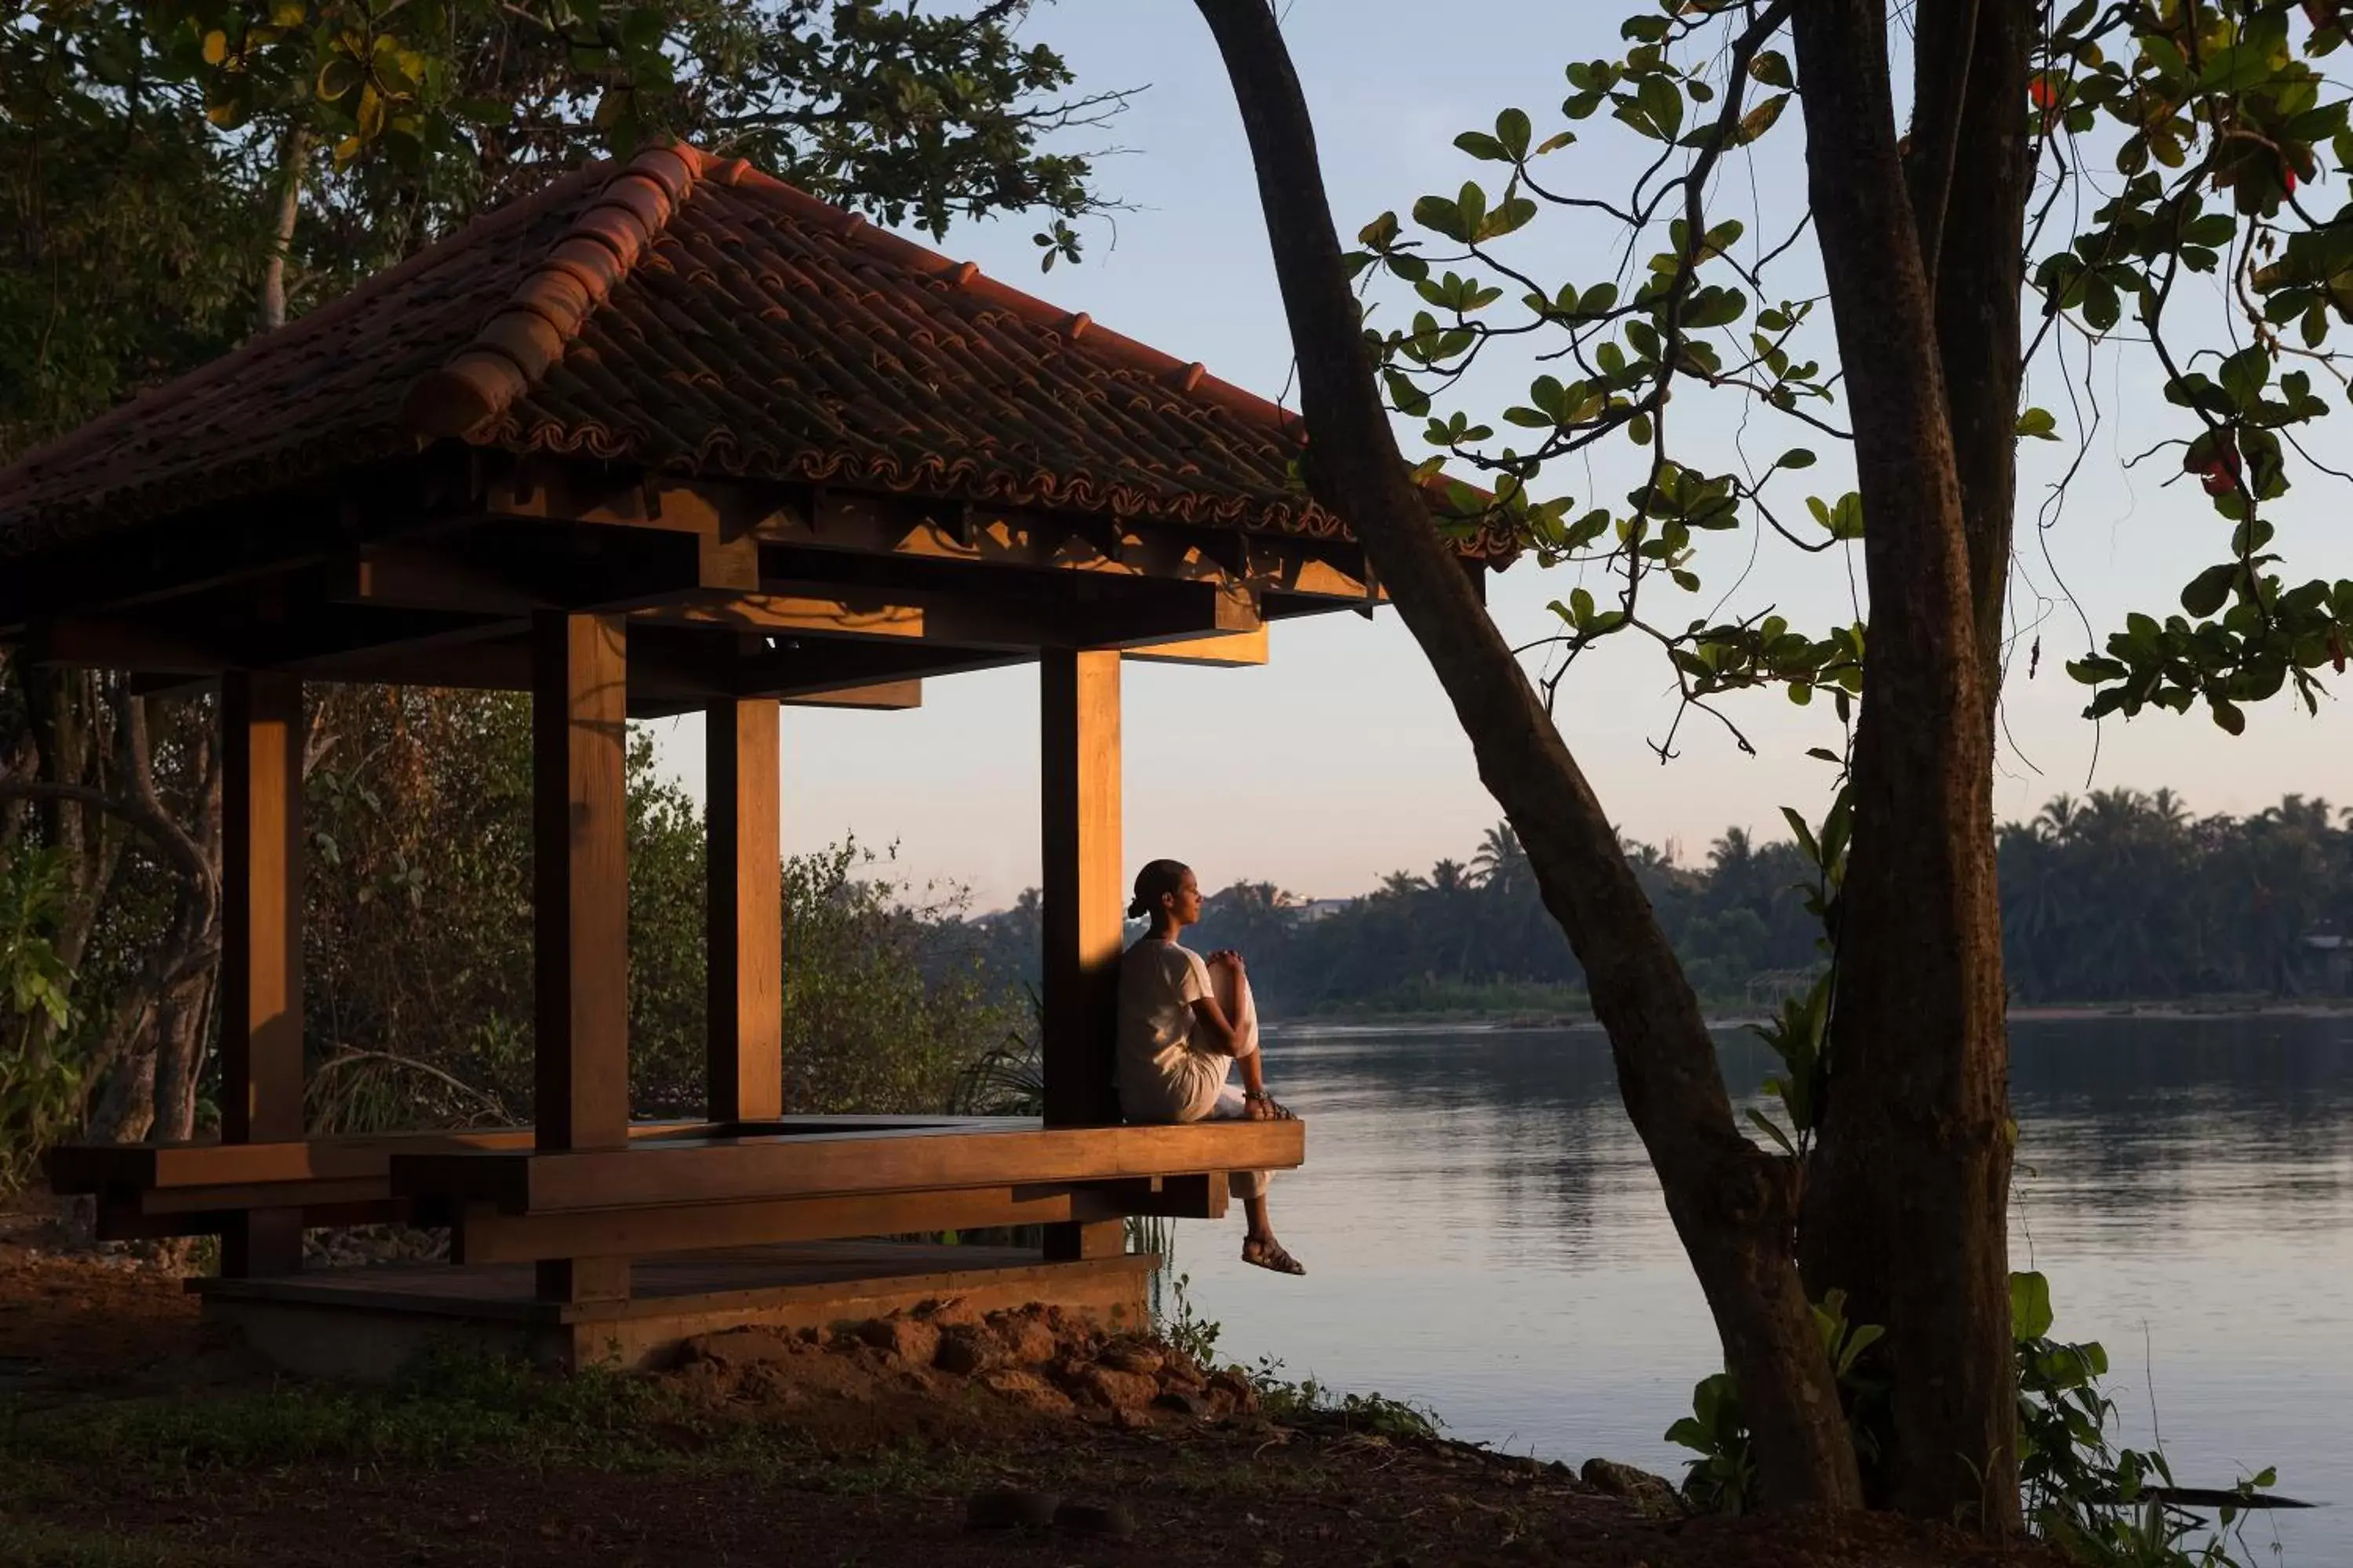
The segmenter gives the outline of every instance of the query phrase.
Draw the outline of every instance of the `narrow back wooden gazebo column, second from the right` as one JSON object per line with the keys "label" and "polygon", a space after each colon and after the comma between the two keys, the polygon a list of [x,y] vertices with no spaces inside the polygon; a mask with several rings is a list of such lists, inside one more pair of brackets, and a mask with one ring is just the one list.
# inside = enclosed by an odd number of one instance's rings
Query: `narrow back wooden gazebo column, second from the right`
{"label": "narrow back wooden gazebo column, second from the right", "polygon": [[776,701],[704,710],[708,1098],[713,1121],[784,1114],[784,875]]}

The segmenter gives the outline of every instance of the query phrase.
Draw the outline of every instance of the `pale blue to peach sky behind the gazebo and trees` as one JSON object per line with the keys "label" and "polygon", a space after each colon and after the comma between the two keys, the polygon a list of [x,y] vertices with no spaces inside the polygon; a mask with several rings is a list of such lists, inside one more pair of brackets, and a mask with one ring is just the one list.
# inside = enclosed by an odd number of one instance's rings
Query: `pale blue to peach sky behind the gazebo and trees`
{"label": "pale blue to peach sky behind the gazebo and trees", "polygon": [[[1539,139],[1558,129],[1562,66],[1612,54],[1621,9],[1598,0],[1454,0],[1447,7],[1454,42],[1445,42],[1433,38],[1424,5],[1292,0],[1285,31],[1315,113],[1341,230],[1480,174],[1452,139],[1492,127],[1504,106],[1525,106]],[[1061,0],[1038,9],[1031,35],[1064,52],[1082,89],[1144,89],[1108,129],[1087,136],[1089,148],[1118,148],[1099,162],[1099,186],[1127,209],[1085,228],[1080,266],[1047,275],[1038,270],[1033,219],[962,223],[936,247],[1179,360],[1200,360],[1226,381],[1285,395],[1289,339],[1266,228],[1240,120],[1200,14],[1188,0]],[[1765,242],[1774,214],[1786,223],[1800,212],[1795,120],[1788,115],[1774,139],[1784,148],[1774,160],[1734,174],[1760,216],[1751,247]],[[1631,139],[1607,120],[1588,120],[1579,134],[1584,143],[1553,158],[1555,186],[1621,193]],[[1609,270],[1605,240],[1546,219],[1518,259],[1548,280],[1591,282]],[[1795,294],[1802,284],[1793,273],[1786,287]],[[2082,367],[2075,369],[2082,381]],[[1464,407],[1485,409],[1492,421],[1527,374],[1520,364],[1475,378]],[[2115,355],[2089,371],[2089,386],[2071,390],[2057,364],[2042,360],[2031,371],[2028,400],[2052,407],[2071,437],[2094,400],[2101,414],[2064,512],[2049,529],[2021,529],[2021,576],[2012,592],[2021,614],[2035,618],[2021,642],[2040,637],[2042,661],[2033,679],[2014,670],[2005,686],[1995,809],[2017,818],[2057,792],[2155,785],[2172,785],[2195,811],[2259,811],[2289,790],[2353,804],[2353,745],[2346,712],[2332,701],[2322,701],[2318,717],[2273,701],[2235,741],[2202,712],[2099,726],[2080,717],[2085,689],[2066,679],[2061,663],[2087,649],[2082,623],[2106,637],[2127,609],[2172,611],[2181,583],[2226,555],[2226,531],[2195,489],[2162,487],[2177,463],[2125,468],[2134,444],[2153,440],[2165,416],[2146,362]],[[1725,463],[1734,454],[1755,458],[1758,447],[1769,461],[1805,435],[1755,430],[1734,423],[1737,416],[1729,400],[1692,414],[1701,444],[1715,442]],[[1419,433],[1405,435],[1407,451],[1417,451]],[[1847,489],[1835,442],[1809,444],[1824,456],[1807,475],[1812,489]],[[2042,501],[2068,451],[2026,444],[2021,510]],[[1607,468],[1577,482],[1560,477],[1581,496],[1626,489]],[[2280,512],[2280,548],[2299,581],[2353,576],[2339,508],[2341,496],[2306,484]],[[1812,628],[1854,618],[1840,555],[1760,548],[1741,574],[1746,552],[1741,541],[1722,564],[1704,562],[1711,588],[1687,614],[1706,614],[1720,597],[1718,583],[1732,588],[1739,578],[1732,609],[1772,607]],[[1492,578],[1489,614],[1513,642],[1541,637],[1555,623],[1548,602],[1579,581],[1567,569],[1515,564]],[[1588,581],[1602,592],[1600,581]],[[1838,748],[1826,703],[1746,698],[1734,717],[1755,745],[1753,757],[1713,722],[1687,719],[1675,759],[1661,764],[1652,743],[1675,717],[1668,693],[1657,651],[1633,646],[1588,656],[1560,689],[1562,733],[1624,832],[1704,863],[1727,825],[1781,837],[1784,804],[1819,816],[1828,769],[1805,750]],[[668,719],[652,731],[661,764],[699,792],[701,719]],[[1478,783],[1438,682],[1391,611],[1372,621],[1332,614],[1282,623],[1266,668],[1125,665],[1125,804],[1132,865],[1172,856],[1195,865],[1212,889],[1247,877],[1304,898],[1353,896],[1388,870],[1468,858],[1501,816]],[[901,877],[969,889],[976,910],[1035,886],[1035,668],[927,682],[925,705],[911,712],[788,708],[786,849],[807,851],[845,835],[894,849]]]}

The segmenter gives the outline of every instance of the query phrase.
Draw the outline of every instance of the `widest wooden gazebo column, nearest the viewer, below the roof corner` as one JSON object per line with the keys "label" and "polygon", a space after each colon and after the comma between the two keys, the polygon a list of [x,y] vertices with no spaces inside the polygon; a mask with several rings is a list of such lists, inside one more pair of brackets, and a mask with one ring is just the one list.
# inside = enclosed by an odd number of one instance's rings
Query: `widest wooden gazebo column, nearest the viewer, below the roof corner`
{"label": "widest wooden gazebo column, nearest the viewer, below the roof corner", "polygon": [[[628,1145],[628,658],[619,616],[532,621],[536,1150]],[[539,1265],[539,1295],[628,1295],[628,1258]]]}

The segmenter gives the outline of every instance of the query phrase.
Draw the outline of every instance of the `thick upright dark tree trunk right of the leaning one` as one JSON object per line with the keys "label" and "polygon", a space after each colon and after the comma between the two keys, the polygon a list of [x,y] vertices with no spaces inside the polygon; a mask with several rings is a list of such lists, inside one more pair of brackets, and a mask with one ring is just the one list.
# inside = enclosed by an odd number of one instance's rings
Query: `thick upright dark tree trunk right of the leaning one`
{"label": "thick upright dark tree trunk right of the leaning one", "polygon": [[1939,313],[1897,150],[1885,5],[1807,0],[1795,54],[1871,592],[1807,1284],[1842,1286],[1857,1321],[1887,1328],[1882,1500],[2002,1533],[2019,1523],[2019,1495],[1993,684]]}

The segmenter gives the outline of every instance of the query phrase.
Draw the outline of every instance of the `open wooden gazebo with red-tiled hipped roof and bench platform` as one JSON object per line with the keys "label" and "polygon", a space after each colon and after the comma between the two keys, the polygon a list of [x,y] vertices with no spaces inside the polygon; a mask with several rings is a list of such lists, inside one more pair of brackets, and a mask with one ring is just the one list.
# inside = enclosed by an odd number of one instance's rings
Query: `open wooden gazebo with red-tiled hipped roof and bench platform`
{"label": "open wooden gazebo with red-tiled hipped roof and bench platform", "polygon": [[[379,1371],[473,1324],[656,1354],[920,1295],[1141,1307],[1129,1213],[1214,1215],[1301,1124],[1118,1126],[1120,661],[1261,663],[1379,588],[1297,421],[739,160],[645,150],[0,473],[0,639],[216,682],[221,1135],[73,1145],[101,1234],[219,1234],[207,1312]],[[1482,543],[1464,548],[1478,571]],[[779,703],[1042,670],[1045,1119],[795,1117]],[[306,1138],[304,682],[532,693],[534,1126]],[[708,1112],[633,1124],[624,719],[708,722]],[[386,954],[398,961],[398,954]],[[447,1225],[454,1267],[301,1269]],[[1047,1225],[1002,1248],[849,1237]],[[833,1244],[833,1246],[816,1246]],[[525,1267],[529,1265],[529,1267]]]}

